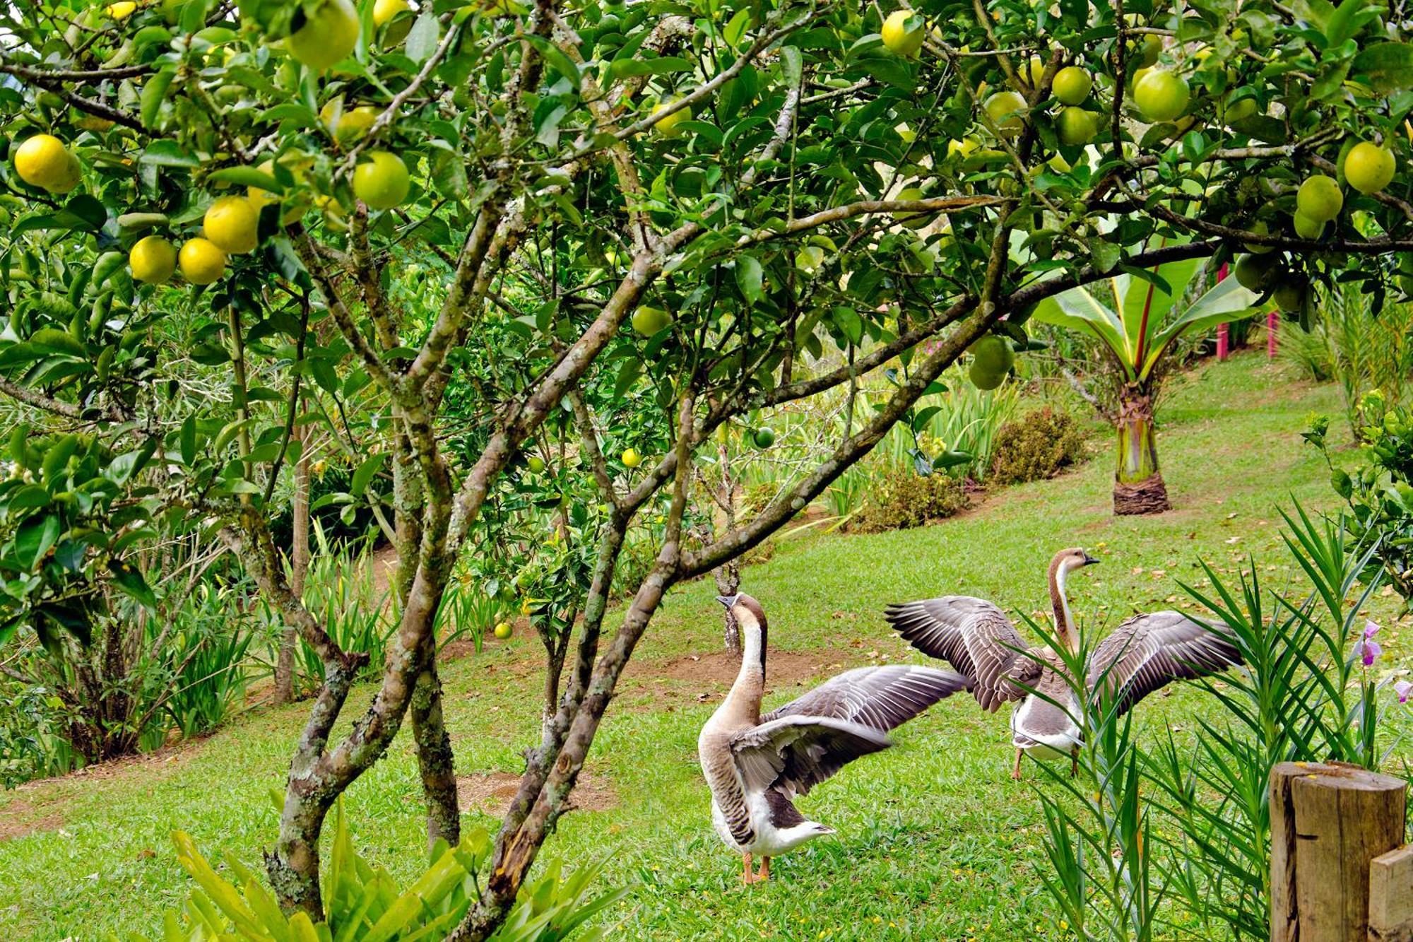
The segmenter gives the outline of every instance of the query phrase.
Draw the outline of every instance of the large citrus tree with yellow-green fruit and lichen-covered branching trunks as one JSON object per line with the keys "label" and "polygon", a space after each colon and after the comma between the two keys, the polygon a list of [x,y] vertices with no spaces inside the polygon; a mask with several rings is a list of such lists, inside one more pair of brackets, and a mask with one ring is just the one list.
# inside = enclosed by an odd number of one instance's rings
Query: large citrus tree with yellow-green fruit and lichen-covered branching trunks
{"label": "large citrus tree with yellow-green fruit and lichen-covered branching trunks", "polygon": [[[455,843],[438,611],[487,506],[572,440],[536,499],[592,564],[454,934],[489,938],[664,593],[774,533],[975,341],[1013,351],[1046,297],[1242,243],[1381,291],[1413,248],[1400,30],[1356,0],[6,4],[0,392],[32,423],[0,485],[7,632],[76,574],[151,604],[157,523],[220,539],[324,662],[267,856],[281,905],[317,917],[325,815],[404,723],[428,835]],[[1356,143],[1393,174],[1341,182]],[[1341,197],[1316,235],[1291,215],[1311,175]],[[1012,351],[978,351],[1000,382]],[[763,508],[692,526],[716,429],[885,365],[862,426]],[[222,386],[185,395],[199,369]],[[377,506],[400,560],[352,724],[363,663],[268,528],[309,427],[356,460],[341,499]],[[102,447],[31,454],[55,430]],[[89,488],[122,512],[86,522]],[[626,546],[646,566],[610,612]]]}

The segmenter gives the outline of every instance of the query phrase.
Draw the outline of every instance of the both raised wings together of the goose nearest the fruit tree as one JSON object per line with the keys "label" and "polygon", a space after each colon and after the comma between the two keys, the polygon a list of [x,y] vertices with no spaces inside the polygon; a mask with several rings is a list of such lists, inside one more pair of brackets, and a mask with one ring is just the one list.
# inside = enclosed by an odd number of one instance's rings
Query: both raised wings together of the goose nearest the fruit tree
{"label": "both raised wings together of the goose nearest the fruit tree", "polygon": [[861,755],[887,748],[885,733],[965,686],[961,675],[917,665],[846,670],[738,733],[732,754],[747,788],[805,795]]}

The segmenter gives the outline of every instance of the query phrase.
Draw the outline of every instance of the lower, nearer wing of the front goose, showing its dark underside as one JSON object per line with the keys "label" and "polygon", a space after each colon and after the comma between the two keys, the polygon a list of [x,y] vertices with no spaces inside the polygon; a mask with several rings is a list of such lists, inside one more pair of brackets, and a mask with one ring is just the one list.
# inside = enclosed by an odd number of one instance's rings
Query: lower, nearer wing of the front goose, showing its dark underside
{"label": "lower, nearer wing of the front goose, showing its dark underside", "polygon": [[774,788],[794,798],[853,760],[880,752],[887,737],[862,723],[827,716],[783,716],[742,730],[731,751],[747,792]]}

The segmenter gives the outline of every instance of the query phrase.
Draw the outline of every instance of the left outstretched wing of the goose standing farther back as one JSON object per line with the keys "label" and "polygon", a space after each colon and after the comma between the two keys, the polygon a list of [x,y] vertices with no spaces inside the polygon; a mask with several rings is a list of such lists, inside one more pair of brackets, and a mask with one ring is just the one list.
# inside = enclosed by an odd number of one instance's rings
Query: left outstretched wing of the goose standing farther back
{"label": "left outstretched wing of the goose standing farther back", "polygon": [[1040,661],[1026,653],[1016,627],[985,598],[924,598],[889,605],[883,615],[907,644],[962,672],[983,710],[1019,700],[1040,679]]}

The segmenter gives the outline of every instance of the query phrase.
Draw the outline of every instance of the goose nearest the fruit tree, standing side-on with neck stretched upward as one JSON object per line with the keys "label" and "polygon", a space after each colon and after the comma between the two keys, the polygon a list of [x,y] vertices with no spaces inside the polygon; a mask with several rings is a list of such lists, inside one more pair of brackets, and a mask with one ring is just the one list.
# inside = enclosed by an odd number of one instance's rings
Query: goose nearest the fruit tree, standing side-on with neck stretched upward
{"label": "goose nearest the fruit tree, standing side-on with neck stretched upward", "polygon": [[[750,595],[718,600],[740,627],[740,673],[697,740],[711,816],[742,854],[742,883],[770,878],[770,859],[834,830],[794,806],[798,795],[846,764],[887,748],[885,735],[966,686],[950,670],[887,665],[845,670],[797,700],[760,714],[766,687],[766,612]],[[760,873],[752,854],[762,857]]]}

